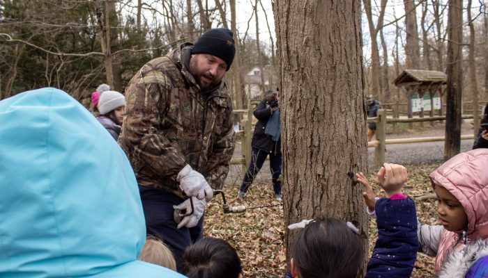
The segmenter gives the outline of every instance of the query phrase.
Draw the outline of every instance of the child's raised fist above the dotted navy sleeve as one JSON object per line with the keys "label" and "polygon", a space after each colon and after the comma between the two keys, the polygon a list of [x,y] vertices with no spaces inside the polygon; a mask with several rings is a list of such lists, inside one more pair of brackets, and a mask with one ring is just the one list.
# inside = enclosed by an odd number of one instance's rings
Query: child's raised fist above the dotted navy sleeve
{"label": "child's raised fist above the dotted navy sleeve", "polygon": [[407,179],[406,168],[404,166],[390,163],[384,163],[377,176],[379,186],[385,190],[388,197],[401,193],[402,187]]}

